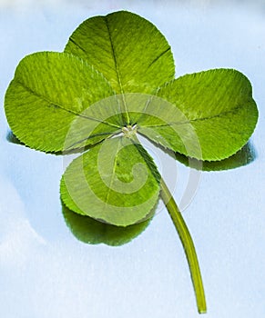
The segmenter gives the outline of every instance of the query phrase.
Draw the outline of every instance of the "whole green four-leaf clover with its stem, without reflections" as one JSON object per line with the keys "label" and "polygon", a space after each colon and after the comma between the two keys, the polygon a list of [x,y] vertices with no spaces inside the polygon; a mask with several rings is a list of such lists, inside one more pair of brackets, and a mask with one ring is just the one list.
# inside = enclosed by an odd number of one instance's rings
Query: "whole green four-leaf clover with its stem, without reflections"
{"label": "whole green four-leaf clover with its stem, without reflections", "polygon": [[83,153],[61,180],[61,198],[77,214],[127,226],[150,217],[162,198],[203,313],[189,230],[138,134],[187,157],[219,161],[248,142],[258,110],[249,80],[236,70],[174,76],[170,46],[156,26],[124,11],[96,16],[77,27],[64,53],[25,56],[6,91],[5,114],[27,146]]}

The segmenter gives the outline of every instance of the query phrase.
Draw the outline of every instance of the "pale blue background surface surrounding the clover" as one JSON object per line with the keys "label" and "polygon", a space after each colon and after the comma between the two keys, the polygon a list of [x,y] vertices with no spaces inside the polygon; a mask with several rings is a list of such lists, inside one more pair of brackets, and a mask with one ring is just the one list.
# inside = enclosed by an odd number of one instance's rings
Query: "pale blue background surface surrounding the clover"
{"label": "pale blue background surface surrounding the clover", "polygon": [[[166,35],[177,75],[229,67],[250,78],[260,109],[251,138],[257,159],[235,170],[203,173],[184,217],[199,254],[206,317],[263,317],[264,1],[0,0],[0,104],[25,55],[62,51],[68,36],[87,17],[120,9],[143,15]],[[165,209],[126,245],[81,243],[61,213],[62,158],[10,144],[7,132],[1,107],[1,317],[199,316],[185,254]],[[168,158],[163,160],[159,164],[170,165]],[[189,169],[177,166],[185,183]],[[181,180],[178,184],[174,195],[179,202]]]}

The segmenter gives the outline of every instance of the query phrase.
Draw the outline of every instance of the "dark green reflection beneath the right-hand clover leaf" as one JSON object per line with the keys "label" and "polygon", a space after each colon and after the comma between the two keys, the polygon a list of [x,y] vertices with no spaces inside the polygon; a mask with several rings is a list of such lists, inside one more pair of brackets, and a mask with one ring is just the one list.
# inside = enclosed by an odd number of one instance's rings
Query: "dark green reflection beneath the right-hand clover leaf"
{"label": "dark green reflection beneath the right-hand clover leaf", "polygon": [[245,144],[240,151],[236,154],[231,155],[229,158],[220,161],[204,161],[202,164],[196,159],[189,159],[183,154],[175,154],[176,159],[190,168],[201,168],[202,171],[220,171],[239,168],[252,163],[256,158],[257,154],[254,146],[249,142]]}

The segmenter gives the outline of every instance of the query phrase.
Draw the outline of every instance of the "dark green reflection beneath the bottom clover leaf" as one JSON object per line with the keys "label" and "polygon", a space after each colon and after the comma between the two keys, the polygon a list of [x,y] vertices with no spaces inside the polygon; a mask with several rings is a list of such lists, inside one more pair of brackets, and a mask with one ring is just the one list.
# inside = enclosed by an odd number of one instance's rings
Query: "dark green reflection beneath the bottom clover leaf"
{"label": "dark green reflection beneath the bottom clover leaf", "polygon": [[130,242],[147,228],[151,220],[150,217],[144,222],[121,227],[101,223],[91,217],[76,214],[64,204],[62,204],[62,212],[67,226],[79,241],[90,244],[105,243],[111,246],[119,246]]}

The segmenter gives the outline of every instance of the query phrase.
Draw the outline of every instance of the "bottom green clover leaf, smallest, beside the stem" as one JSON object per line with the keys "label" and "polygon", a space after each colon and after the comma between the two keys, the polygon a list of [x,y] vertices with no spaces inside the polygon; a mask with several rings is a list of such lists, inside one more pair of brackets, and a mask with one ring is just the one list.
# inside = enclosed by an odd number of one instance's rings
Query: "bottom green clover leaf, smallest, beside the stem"
{"label": "bottom green clover leaf, smallest, beside the stem", "polygon": [[155,164],[127,137],[106,140],[77,157],[61,182],[62,200],[72,211],[121,226],[143,220],[158,194]]}

